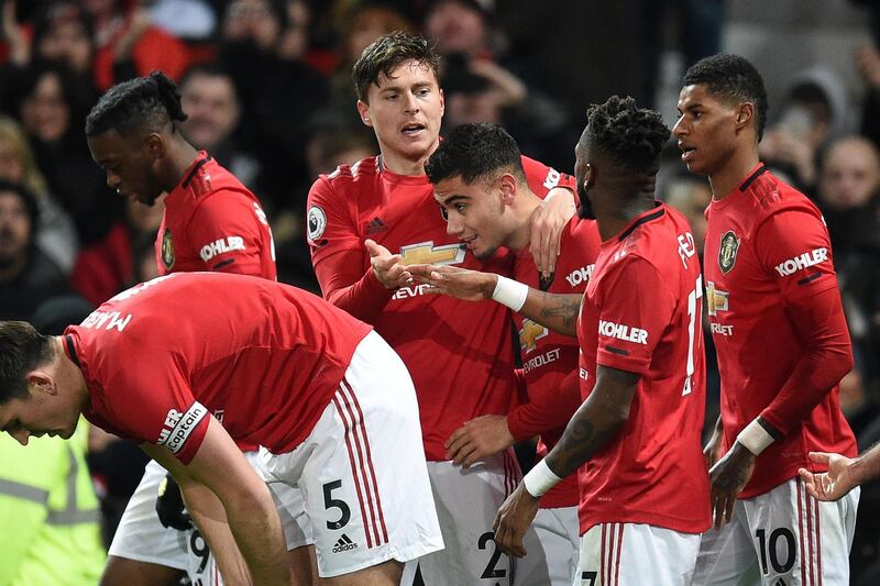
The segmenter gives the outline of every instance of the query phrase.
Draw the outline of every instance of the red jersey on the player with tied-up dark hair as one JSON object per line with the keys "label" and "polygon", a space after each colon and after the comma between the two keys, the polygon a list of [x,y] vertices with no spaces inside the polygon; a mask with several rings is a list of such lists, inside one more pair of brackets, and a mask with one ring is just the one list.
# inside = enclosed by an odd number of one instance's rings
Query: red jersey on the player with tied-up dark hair
{"label": "red jersey on the player with tied-up dark hair", "polygon": [[260,201],[204,151],[165,198],[161,275],[220,270],[275,280],[275,244]]}

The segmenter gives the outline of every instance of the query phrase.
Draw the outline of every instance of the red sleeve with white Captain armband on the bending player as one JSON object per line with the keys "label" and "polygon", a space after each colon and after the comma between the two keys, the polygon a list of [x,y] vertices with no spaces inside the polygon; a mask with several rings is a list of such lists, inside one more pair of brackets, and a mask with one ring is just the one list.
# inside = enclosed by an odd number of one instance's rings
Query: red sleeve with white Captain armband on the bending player
{"label": "red sleeve with white Captain armband on the bending player", "polygon": [[[157,368],[160,364],[162,367]],[[166,447],[183,464],[196,455],[208,430],[208,410],[167,356],[139,356],[103,382],[114,394],[107,401],[113,427],[139,442]]]}

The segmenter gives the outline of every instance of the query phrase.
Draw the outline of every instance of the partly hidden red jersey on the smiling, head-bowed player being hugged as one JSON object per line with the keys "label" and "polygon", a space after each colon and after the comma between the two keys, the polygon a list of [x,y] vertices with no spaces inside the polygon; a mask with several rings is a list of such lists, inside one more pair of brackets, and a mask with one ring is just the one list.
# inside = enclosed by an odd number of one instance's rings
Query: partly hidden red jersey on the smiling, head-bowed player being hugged
{"label": "partly hidden red jersey on the smiling, head-bowed player being hugged", "polygon": [[[553,281],[547,290],[583,294],[601,244],[594,220],[572,218],[562,233],[561,254],[557,258]],[[516,280],[538,288],[538,269],[528,248],[517,254],[514,275]],[[559,397],[552,397],[565,390],[563,379],[578,369],[580,346],[574,338],[559,334],[519,313],[514,313],[514,321],[519,332],[528,402],[510,411],[508,427],[517,439],[540,435],[538,457],[541,458],[559,442],[571,416],[581,405],[576,386],[572,386],[572,397],[562,405]],[[552,428],[546,427],[548,418],[557,420]],[[578,477],[571,475],[541,497],[541,507],[575,507],[578,500]]]}

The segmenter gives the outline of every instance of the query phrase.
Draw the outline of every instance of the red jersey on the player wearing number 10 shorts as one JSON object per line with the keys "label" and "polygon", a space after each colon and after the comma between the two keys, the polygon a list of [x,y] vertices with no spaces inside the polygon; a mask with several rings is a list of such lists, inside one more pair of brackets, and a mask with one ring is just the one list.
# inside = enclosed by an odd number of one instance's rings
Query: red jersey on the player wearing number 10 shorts
{"label": "red jersey on the player wearing number 10 shorts", "polygon": [[[837,287],[837,277],[822,214],[763,165],[727,197],[713,200],[706,217],[706,297],[727,451],[803,356],[804,341],[785,306]],[[810,451],[857,453],[836,385],[807,419],[761,453],[739,498],[767,493],[801,466],[813,469]]]}

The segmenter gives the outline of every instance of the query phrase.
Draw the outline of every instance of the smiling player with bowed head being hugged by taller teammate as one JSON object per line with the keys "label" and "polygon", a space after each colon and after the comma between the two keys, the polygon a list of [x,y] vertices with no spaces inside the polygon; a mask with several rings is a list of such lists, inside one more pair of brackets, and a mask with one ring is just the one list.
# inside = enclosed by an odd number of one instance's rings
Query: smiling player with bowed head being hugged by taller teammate
{"label": "smiling player with bowed head being hugged by taller teammate", "polygon": [[[519,148],[495,124],[463,124],[444,137],[425,165],[450,235],[466,242],[476,258],[504,246],[516,253],[515,278],[554,294],[582,295],[598,254],[594,220],[573,218],[560,241],[556,275],[539,277],[531,253],[531,217],[541,206],[526,181]],[[507,416],[466,421],[447,442],[447,457],[464,468],[540,435],[543,456],[559,441],[581,405],[578,341],[515,313],[528,400]],[[568,377],[568,378],[566,378]],[[564,383],[563,383],[564,380]],[[541,500],[527,537],[530,563],[517,565],[518,584],[570,586],[578,568],[578,478],[571,476]]]}

